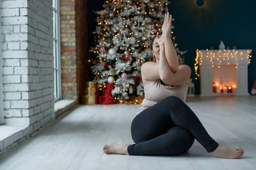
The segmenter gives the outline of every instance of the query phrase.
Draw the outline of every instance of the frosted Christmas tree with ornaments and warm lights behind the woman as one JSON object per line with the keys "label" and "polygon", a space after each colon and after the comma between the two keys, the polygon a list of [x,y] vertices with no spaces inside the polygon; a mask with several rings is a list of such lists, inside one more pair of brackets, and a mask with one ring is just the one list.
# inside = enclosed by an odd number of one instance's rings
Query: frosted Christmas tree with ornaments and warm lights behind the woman
{"label": "frosted Christmas tree with ornaments and warm lights behind the woman", "polygon": [[93,34],[98,35],[98,44],[90,51],[96,54],[91,69],[100,91],[105,83],[114,83],[114,99],[143,96],[140,68],[152,60],[151,38],[161,34],[168,4],[168,0],[106,0],[104,9],[96,11],[98,26]]}

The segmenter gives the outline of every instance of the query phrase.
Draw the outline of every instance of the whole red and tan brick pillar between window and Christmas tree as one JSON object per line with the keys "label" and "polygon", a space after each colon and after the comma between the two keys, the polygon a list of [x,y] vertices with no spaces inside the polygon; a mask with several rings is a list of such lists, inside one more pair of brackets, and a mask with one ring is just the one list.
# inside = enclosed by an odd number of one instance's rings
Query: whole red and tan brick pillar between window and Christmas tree
{"label": "whole red and tan brick pillar between window and Christmas tree", "polygon": [[[77,4],[77,5],[76,5]],[[77,99],[87,80],[87,1],[61,0],[61,85],[63,99]]]}

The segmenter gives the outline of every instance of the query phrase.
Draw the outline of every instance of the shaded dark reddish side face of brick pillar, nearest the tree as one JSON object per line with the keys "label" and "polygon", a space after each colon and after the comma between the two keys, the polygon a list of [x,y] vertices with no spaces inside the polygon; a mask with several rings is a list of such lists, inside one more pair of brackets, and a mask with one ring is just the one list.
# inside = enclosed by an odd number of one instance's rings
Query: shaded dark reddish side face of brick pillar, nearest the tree
{"label": "shaded dark reddish side face of brick pillar, nearest the tree", "polygon": [[88,80],[87,60],[87,0],[76,0],[76,71],[77,91],[80,96],[84,95],[85,82]]}

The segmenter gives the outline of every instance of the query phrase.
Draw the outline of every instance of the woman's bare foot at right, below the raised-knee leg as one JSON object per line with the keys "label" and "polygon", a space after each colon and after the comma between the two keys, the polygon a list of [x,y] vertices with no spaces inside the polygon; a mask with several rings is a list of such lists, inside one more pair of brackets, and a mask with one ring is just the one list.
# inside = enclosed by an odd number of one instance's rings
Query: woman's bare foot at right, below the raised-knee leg
{"label": "woman's bare foot at right, below the raised-knee leg", "polygon": [[218,145],[217,149],[209,153],[210,156],[216,158],[239,159],[244,154],[241,147],[224,147]]}

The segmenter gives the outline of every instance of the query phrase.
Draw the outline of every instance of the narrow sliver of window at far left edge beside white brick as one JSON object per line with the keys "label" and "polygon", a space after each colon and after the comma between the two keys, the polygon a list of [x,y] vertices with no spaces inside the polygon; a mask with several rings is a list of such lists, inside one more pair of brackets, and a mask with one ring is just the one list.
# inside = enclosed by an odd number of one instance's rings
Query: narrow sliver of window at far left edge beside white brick
{"label": "narrow sliver of window at far left edge beside white brick", "polygon": [[[0,5],[1,9],[1,5]],[[1,12],[0,12],[0,21],[1,21]],[[1,23],[1,22],[0,22]],[[2,32],[0,24],[0,32]],[[0,42],[2,43],[2,37],[0,36]],[[2,45],[0,45],[0,125],[4,124],[3,119],[3,72],[2,72]]]}

